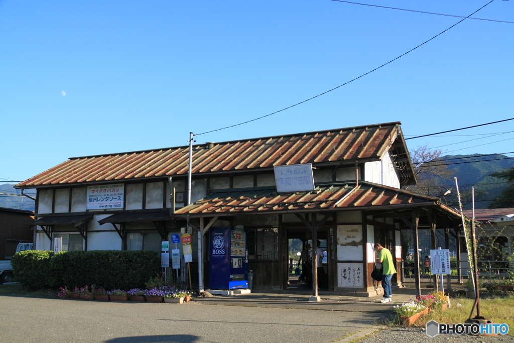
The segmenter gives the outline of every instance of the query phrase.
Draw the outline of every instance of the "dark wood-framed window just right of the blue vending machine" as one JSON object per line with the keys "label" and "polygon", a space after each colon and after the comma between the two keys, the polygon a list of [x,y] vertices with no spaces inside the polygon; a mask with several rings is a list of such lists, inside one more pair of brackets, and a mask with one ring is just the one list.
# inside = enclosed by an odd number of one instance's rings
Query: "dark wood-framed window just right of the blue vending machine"
{"label": "dark wood-framed window just right of the blue vending machine", "polygon": [[279,229],[248,229],[248,258],[254,260],[278,260]]}

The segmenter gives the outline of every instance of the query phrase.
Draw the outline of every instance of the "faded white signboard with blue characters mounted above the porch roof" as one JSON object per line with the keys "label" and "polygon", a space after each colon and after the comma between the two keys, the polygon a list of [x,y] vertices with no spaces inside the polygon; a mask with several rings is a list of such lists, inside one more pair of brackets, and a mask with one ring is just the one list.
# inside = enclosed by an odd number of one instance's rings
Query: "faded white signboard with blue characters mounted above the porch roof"
{"label": "faded white signboard with blue characters mounted above the porch roof", "polygon": [[275,183],[277,192],[313,191],[313,166],[304,165],[275,166]]}

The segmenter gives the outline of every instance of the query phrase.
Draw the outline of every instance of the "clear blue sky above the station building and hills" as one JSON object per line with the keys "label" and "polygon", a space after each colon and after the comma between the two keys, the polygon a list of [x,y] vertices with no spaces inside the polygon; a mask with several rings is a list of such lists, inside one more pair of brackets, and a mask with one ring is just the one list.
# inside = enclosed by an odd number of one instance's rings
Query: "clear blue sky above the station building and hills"
{"label": "clear blue sky above the station building and hills", "polygon": [[[466,16],[488,1],[362,2]],[[495,0],[474,17],[514,22],[514,0]],[[0,178],[24,180],[73,156],[187,145],[190,131],[323,93],[458,21],[329,0],[0,1]],[[512,118],[513,37],[514,24],[467,19],[336,91],[197,142],[391,121],[421,135]],[[508,131],[514,120],[453,134]],[[509,138],[440,149],[510,152],[514,139],[495,142]]]}

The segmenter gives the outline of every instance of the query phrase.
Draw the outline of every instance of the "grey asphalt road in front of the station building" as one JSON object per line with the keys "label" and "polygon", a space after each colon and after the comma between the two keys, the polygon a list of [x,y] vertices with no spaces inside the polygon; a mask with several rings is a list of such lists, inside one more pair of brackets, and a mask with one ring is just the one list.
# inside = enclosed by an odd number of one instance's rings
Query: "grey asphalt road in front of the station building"
{"label": "grey asphalt road in front of the station building", "polygon": [[333,342],[386,315],[0,296],[0,341]]}

